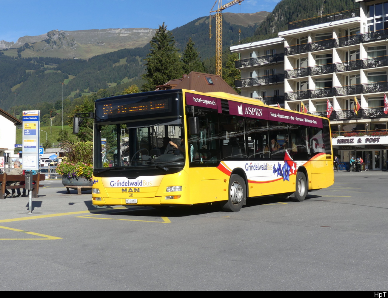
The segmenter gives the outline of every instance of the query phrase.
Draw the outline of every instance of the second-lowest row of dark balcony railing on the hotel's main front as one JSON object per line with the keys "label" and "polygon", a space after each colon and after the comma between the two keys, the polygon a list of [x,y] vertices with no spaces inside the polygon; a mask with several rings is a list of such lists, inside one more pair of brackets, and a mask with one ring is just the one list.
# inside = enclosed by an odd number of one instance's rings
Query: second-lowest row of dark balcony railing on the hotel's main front
{"label": "second-lowest row of dark balcony railing on the hotel's main front", "polygon": [[377,83],[347,85],[339,87],[327,87],[322,89],[309,89],[302,91],[286,92],[285,100],[301,100],[309,98],[332,97],[340,95],[355,95],[361,93],[388,92],[388,81]]}

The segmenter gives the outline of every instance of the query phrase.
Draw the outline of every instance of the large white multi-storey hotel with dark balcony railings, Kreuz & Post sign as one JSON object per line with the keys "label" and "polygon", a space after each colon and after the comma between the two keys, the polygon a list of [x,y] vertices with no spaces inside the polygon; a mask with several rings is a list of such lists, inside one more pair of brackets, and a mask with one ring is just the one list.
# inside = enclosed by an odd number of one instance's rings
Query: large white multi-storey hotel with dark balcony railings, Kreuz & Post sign
{"label": "large white multi-storey hotel with dark balcony railings, Kreuz & Post sign", "polygon": [[[242,79],[236,86],[242,95],[254,98],[278,89],[279,96],[284,95],[286,109],[300,111],[303,102],[309,113],[324,117],[329,99],[334,107],[330,116],[334,154],[345,163],[352,155],[361,156],[366,168],[388,170],[388,142],[381,138],[388,134],[388,115],[383,112],[384,94],[388,92],[388,2],[355,2],[360,9],[296,21],[289,24],[289,30],[279,32],[279,38],[231,47],[232,52],[241,54],[236,66]],[[256,57],[256,52],[267,54],[275,42],[276,53],[284,45],[284,63],[274,66],[276,73],[284,68],[284,85],[280,80],[249,85],[246,81],[256,82],[255,76],[260,78],[263,71],[267,74],[272,65],[246,66],[247,59]],[[267,93],[260,93],[265,91],[263,87],[267,87]],[[357,114],[353,109],[355,98],[361,106]],[[340,137],[334,135],[338,132]],[[365,134],[369,138],[363,137]],[[369,142],[371,138],[376,140]]]}

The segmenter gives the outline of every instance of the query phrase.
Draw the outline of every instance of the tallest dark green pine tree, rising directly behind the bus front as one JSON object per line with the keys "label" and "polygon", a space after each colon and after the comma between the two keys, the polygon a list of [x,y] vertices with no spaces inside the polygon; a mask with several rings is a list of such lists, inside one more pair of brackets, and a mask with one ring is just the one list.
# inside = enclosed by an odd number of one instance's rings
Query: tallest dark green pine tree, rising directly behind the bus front
{"label": "tallest dark green pine tree, rising directly behind the bus front", "polygon": [[169,80],[177,79],[182,75],[182,62],[178,50],[175,48],[174,36],[163,23],[159,25],[155,36],[150,42],[151,53],[147,54],[146,73],[143,78],[148,83],[142,86],[142,91],[155,90],[156,86],[163,85]]}

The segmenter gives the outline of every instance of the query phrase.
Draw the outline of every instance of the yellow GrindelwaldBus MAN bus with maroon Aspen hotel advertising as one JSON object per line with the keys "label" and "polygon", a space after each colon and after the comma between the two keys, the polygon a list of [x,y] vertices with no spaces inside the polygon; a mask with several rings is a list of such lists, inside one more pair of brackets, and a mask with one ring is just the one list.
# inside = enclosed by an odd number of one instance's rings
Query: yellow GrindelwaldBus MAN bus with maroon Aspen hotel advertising
{"label": "yellow GrindelwaldBus MAN bus with maroon Aspen hotel advertising", "polygon": [[334,183],[329,120],[223,92],[98,99],[92,183],[98,206],[303,201]]}

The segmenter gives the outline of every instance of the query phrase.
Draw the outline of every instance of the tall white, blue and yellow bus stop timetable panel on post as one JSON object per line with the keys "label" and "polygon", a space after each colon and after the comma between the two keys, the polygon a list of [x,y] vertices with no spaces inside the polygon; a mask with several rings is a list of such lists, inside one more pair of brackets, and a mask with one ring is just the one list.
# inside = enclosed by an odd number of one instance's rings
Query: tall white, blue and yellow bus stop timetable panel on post
{"label": "tall white, blue and yellow bus stop timetable panel on post", "polygon": [[23,169],[39,170],[39,110],[23,111]]}

